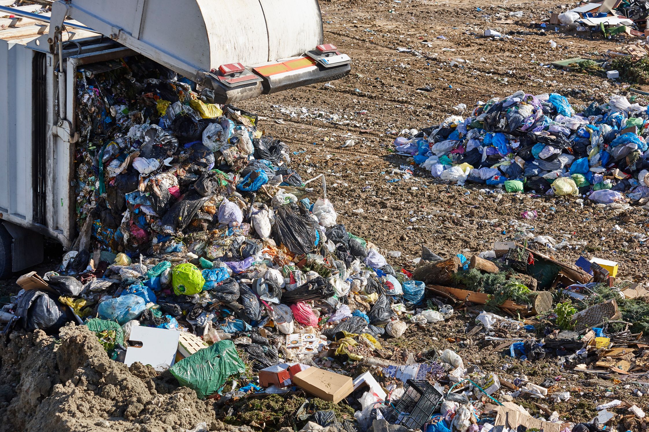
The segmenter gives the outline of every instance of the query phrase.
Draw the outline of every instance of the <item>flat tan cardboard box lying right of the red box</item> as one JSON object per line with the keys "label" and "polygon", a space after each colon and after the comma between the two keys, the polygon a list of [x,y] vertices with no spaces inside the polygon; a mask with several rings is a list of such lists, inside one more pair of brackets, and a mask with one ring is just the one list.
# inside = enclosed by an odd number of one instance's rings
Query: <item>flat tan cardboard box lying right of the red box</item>
{"label": "flat tan cardboard box lying right of the red box", "polygon": [[293,384],[323,400],[337,404],[354,391],[354,381],[349,376],[310,367],[293,377]]}

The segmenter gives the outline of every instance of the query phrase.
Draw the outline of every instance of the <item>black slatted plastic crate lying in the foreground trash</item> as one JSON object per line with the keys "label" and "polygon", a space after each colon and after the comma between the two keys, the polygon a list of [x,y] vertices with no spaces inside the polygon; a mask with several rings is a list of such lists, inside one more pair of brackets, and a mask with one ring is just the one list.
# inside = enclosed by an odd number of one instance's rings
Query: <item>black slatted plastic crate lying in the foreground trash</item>
{"label": "black slatted plastic crate lying in the foreground trash", "polygon": [[389,408],[386,420],[408,429],[422,429],[439,404],[442,394],[425,380],[408,380],[404,395]]}

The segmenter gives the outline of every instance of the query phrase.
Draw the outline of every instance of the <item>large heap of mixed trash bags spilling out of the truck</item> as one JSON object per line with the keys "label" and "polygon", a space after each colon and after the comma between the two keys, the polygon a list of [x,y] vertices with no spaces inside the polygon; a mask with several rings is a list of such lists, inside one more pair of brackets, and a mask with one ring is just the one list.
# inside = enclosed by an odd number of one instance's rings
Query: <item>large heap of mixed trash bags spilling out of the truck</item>
{"label": "large heap of mixed trash bags spilling out of the truck", "polygon": [[[342,339],[336,352],[358,359],[349,347],[380,347],[376,338],[406,331],[401,313],[425,312],[424,284],[337,223],[256,115],[141,58],[80,72],[79,237],[56,271],[18,280],[23,290],[3,308],[17,326],[56,334],[85,324],[113,359],[148,353],[205,397],[243,372],[234,345],[254,371]],[[149,352],[142,328],[180,340],[178,354]],[[134,333],[144,345],[129,349]],[[201,376],[206,365],[212,376]]]}

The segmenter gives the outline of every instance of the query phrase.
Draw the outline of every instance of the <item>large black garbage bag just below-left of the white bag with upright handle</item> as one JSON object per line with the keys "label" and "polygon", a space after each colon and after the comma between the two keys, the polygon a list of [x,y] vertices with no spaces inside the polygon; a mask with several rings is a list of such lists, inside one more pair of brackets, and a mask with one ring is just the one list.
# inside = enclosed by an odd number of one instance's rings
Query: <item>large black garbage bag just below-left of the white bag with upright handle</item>
{"label": "large black garbage bag just below-left of the white bag with upright handle", "polygon": [[296,204],[282,205],[276,210],[273,234],[276,244],[283,244],[297,255],[310,253],[317,240],[313,220],[300,214]]}

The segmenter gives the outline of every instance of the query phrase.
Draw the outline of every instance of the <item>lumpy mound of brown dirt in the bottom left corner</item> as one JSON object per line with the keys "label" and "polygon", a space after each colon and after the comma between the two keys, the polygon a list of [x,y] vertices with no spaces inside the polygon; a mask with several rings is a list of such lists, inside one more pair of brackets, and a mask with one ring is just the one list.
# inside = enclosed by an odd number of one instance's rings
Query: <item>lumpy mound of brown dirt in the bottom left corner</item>
{"label": "lumpy mound of brown dirt in the bottom left corner", "polygon": [[85,326],[59,337],[14,332],[0,348],[0,431],[184,432],[200,422],[241,430],[215,421],[213,401],[173,378],[111,360]]}

